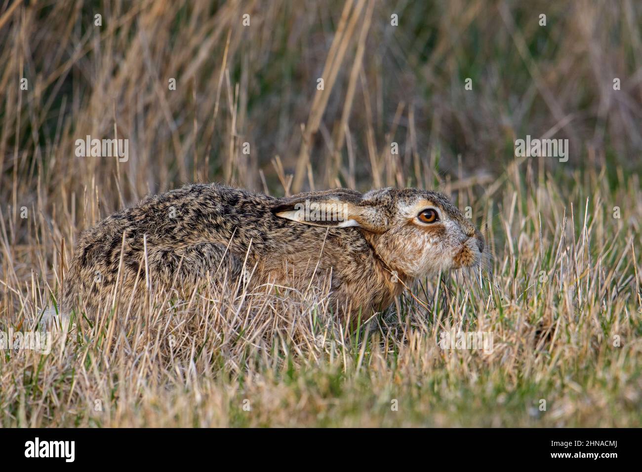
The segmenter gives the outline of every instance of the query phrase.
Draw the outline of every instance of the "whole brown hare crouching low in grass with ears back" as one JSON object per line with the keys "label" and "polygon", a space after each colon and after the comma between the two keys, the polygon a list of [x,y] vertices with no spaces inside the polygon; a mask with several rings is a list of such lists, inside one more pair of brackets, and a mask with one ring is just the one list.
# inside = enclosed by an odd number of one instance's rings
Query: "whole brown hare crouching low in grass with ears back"
{"label": "whole brown hare crouching low in grass with ears back", "polygon": [[80,308],[91,318],[115,286],[126,302],[138,303],[146,283],[189,294],[227,277],[255,288],[329,286],[336,313],[365,316],[385,310],[418,277],[479,265],[483,250],[482,234],[434,191],[334,189],[274,198],[188,184],[82,233],[62,311]]}

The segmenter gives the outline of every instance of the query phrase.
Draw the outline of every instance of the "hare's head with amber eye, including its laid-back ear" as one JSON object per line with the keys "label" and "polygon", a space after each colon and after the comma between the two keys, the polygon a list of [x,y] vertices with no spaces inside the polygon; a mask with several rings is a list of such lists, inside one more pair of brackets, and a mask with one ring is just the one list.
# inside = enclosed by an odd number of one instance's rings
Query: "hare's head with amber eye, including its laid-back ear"
{"label": "hare's head with amber eye, including its laid-back ear", "polygon": [[358,227],[390,270],[413,278],[474,267],[482,260],[482,234],[434,191],[311,192],[279,200],[273,213],[306,225]]}

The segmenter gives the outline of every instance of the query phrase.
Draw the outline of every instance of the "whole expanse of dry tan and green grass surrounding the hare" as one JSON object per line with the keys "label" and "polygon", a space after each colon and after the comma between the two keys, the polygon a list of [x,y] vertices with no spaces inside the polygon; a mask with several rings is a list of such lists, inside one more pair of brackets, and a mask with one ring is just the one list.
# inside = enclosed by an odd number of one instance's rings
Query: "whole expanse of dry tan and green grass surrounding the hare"
{"label": "whole expanse of dry tan and green grass surrounding the hare", "polygon": [[[0,351],[0,424],[641,426],[639,5],[419,4],[396,30],[360,0],[0,4],[0,331],[37,328],[79,231],[189,180],[440,186],[492,254],[356,331],[322,288],[152,287],[47,356]],[[129,161],[75,157],[87,134]],[[571,159],[514,161],[526,134]],[[451,327],[492,353],[440,349]]]}

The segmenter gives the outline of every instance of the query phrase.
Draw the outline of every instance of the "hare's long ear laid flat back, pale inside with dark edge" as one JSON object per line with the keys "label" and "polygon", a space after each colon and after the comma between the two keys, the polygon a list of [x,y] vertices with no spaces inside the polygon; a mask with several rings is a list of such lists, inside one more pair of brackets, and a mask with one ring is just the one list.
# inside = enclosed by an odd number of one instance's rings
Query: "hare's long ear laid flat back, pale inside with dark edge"
{"label": "hare's long ear laid flat back, pale inside with dark edge", "polygon": [[377,208],[366,204],[356,191],[311,192],[278,200],[272,213],[279,218],[311,226],[331,228],[361,227],[383,232],[385,218]]}

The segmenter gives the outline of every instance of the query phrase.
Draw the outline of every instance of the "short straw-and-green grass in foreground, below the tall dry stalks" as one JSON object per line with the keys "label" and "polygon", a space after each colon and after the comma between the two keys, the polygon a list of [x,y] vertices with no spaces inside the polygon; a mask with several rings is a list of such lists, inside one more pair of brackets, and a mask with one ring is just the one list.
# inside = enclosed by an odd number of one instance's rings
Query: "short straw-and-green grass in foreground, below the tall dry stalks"
{"label": "short straw-and-green grass in foreground, below the tall dry stalks", "polygon": [[[578,185],[584,179],[590,196]],[[123,308],[93,326],[76,320],[69,333],[56,335],[47,356],[4,351],[0,421],[640,426],[640,256],[631,243],[639,242],[642,210],[623,206],[620,219],[609,211],[618,201],[639,201],[637,177],[614,192],[595,173],[577,174],[565,186],[552,182],[541,193],[537,182],[507,180],[505,199],[494,204],[491,270],[481,283],[461,274],[439,287],[422,281],[413,288],[422,304],[406,293],[395,304],[401,311],[393,306],[358,329],[333,318],[324,293],[234,297],[218,286],[138,319],[123,319]],[[522,189],[515,200],[510,188]],[[588,207],[579,204],[585,197]],[[509,238],[505,229],[519,236]],[[548,274],[543,282],[540,270]],[[22,299],[12,319],[30,319],[33,308]],[[492,353],[441,349],[439,333],[453,326],[492,332]]]}

